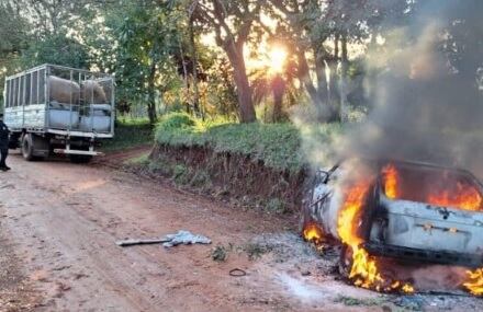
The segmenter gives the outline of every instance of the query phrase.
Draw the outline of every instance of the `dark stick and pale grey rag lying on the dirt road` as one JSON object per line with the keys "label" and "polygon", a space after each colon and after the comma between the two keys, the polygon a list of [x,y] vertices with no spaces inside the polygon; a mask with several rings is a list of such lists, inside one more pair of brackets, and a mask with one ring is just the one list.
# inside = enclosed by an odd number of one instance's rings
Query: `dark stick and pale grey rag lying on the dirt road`
{"label": "dark stick and pale grey rag lying on the dirt road", "polygon": [[160,244],[165,247],[172,247],[179,244],[211,244],[211,240],[203,235],[192,234],[190,231],[180,230],[176,234],[168,234],[162,239],[149,239],[149,240],[124,240],[117,241],[115,244],[122,247],[143,245],[143,244]]}

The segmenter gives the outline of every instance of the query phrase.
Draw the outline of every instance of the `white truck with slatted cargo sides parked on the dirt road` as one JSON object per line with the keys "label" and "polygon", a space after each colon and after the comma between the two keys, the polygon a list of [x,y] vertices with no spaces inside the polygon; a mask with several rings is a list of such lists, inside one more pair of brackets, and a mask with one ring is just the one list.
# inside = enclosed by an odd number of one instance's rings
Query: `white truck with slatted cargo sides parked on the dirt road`
{"label": "white truck with slatted cargo sides parked on the dirt road", "polygon": [[25,160],[65,154],[76,163],[101,154],[114,137],[114,79],[102,72],[45,63],[7,77],[4,123],[9,148]]}

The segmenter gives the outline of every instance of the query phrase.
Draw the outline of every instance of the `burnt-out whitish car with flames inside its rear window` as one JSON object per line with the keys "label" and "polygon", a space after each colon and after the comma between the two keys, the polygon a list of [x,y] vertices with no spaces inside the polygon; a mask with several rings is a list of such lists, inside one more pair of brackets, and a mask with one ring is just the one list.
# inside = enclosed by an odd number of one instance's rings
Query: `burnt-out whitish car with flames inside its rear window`
{"label": "burnt-out whitish car with flames inside its rear window", "polygon": [[[369,170],[356,178],[368,185],[355,226],[361,247],[405,262],[482,266],[483,187],[473,174],[408,161],[363,165]],[[353,171],[347,172],[342,163],[314,176],[303,229],[315,223],[324,234],[338,238],[337,218]]]}

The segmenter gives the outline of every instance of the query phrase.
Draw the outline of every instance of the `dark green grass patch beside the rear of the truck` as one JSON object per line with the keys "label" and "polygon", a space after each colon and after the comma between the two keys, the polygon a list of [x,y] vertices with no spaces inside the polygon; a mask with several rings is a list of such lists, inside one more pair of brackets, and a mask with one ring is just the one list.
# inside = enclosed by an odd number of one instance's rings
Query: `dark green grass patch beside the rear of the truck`
{"label": "dark green grass patch beside the rear of the truck", "polygon": [[114,129],[114,138],[102,143],[101,150],[116,151],[126,148],[151,145],[154,139],[153,127],[147,120],[119,122]]}

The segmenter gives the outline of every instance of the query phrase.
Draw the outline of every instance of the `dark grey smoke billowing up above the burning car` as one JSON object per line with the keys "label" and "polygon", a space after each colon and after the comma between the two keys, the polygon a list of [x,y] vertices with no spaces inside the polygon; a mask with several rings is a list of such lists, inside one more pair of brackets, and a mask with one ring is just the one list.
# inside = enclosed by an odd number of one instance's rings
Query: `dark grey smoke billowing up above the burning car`
{"label": "dark grey smoke billowing up above the burning car", "polygon": [[368,58],[368,69],[380,71],[368,82],[373,108],[338,154],[425,161],[483,177],[483,1],[420,2]]}

